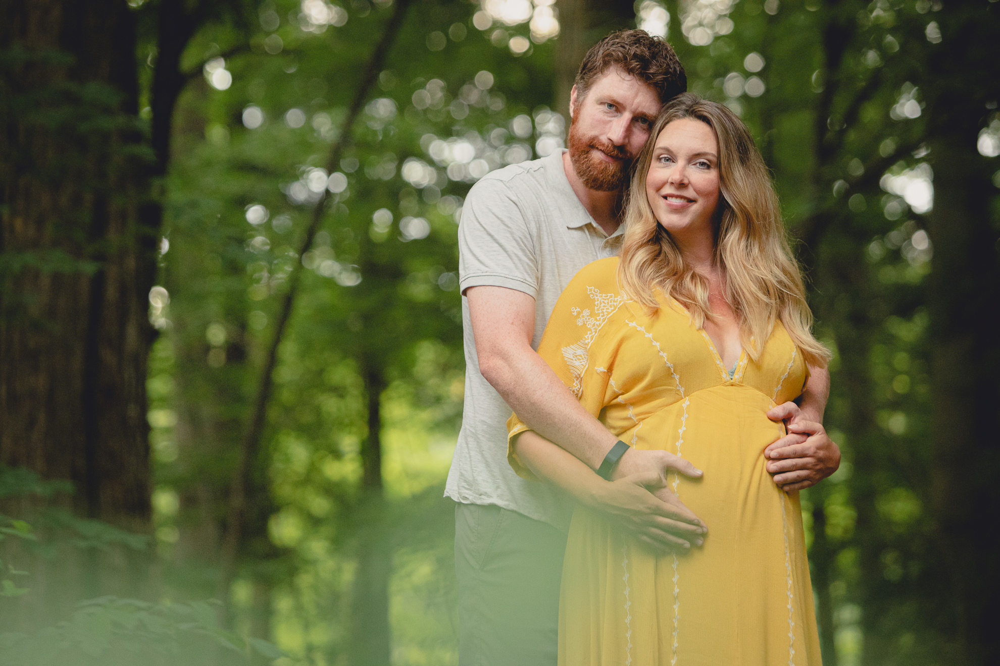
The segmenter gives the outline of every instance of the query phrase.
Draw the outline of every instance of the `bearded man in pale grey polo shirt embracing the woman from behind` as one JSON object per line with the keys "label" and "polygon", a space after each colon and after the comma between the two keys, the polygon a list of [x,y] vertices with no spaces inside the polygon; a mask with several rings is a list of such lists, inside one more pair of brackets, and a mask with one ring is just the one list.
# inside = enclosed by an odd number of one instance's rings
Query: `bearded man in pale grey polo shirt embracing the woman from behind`
{"label": "bearded man in pale grey polo shirt embracing the woman from behind", "polygon": [[[699,543],[703,533],[703,523],[663,487],[667,468],[701,472],[666,451],[629,449],[599,496],[577,497],[521,479],[506,456],[512,408],[595,470],[617,440],[535,349],[570,279],[617,254],[631,162],[660,106],[686,88],[666,42],[642,30],[609,35],[588,51],[573,86],[569,150],[493,172],[466,199],[459,227],[465,405],[445,490],[458,502],[462,666],[556,663],[573,500],[608,512],[661,552]],[[803,430],[768,447],[788,458],[768,463],[788,489],[815,483],[839,462],[819,424],[827,384],[825,372],[814,373],[802,413],[790,403],[772,410],[772,418]]]}

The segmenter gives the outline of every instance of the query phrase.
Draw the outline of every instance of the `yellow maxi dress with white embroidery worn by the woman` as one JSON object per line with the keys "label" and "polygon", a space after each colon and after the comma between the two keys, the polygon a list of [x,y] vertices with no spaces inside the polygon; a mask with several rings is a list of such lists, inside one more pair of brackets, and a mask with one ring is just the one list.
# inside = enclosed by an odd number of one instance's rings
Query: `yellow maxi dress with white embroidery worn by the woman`
{"label": "yellow maxi dress with white embroidery worn by the woman", "polygon": [[[705,474],[670,486],[708,525],[702,547],[657,557],[578,507],[559,604],[560,666],[820,666],[797,492],[765,470],[784,434],[765,412],[802,392],[807,366],[777,324],[732,378],[676,302],[652,314],[622,298],[618,259],[572,280],[538,352],[612,432]],[[529,429],[517,415],[510,435]],[[508,458],[531,477],[513,449]]]}

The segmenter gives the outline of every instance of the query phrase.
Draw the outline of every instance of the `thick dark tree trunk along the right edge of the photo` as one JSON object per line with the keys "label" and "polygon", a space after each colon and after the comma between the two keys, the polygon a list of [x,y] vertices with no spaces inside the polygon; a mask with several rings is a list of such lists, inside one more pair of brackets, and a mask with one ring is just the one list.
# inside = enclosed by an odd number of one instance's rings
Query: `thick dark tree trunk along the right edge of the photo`
{"label": "thick dark tree trunk along the right edge of the photo", "polygon": [[[952,46],[930,61],[929,72],[937,88],[929,143],[931,508],[944,554],[937,626],[952,650],[943,657],[953,664],[1000,661],[1000,271],[995,206],[990,210],[996,164],[974,152],[991,113],[986,104],[996,104],[1000,67],[990,55],[1000,32],[995,9],[942,11],[942,46]],[[970,62],[982,65],[975,77]]]}

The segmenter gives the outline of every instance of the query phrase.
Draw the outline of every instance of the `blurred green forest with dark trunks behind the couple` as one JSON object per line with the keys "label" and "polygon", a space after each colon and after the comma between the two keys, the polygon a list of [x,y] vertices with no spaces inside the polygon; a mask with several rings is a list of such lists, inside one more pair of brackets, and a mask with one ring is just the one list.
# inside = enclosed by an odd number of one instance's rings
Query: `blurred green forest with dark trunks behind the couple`
{"label": "blurred green forest with dark trunks behind the couple", "polygon": [[998,12],[3,0],[0,662],[455,664],[463,197],[638,25],[750,125],[835,350],[824,663],[997,663]]}

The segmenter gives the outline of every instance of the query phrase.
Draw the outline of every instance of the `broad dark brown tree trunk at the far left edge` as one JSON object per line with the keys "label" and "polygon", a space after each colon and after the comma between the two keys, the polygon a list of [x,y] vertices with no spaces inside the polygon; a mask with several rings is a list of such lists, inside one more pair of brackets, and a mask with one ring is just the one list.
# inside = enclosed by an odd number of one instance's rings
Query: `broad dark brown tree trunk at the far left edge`
{"label": "broad dark brown tree trunk at the far left edge", "polygon": [[80,513],[148,531],[156,263],[138,215],[148,165],[128,157],[133,17],[124,0],[0,15],[0,462],[71,479]]}

